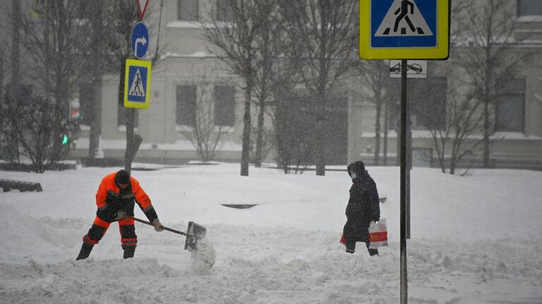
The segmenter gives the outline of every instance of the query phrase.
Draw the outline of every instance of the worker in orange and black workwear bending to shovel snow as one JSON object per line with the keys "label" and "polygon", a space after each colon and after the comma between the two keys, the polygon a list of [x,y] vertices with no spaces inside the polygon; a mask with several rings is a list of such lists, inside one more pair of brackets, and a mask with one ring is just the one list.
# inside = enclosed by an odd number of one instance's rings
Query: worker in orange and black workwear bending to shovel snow
{"label": "worker in orange and black workwear bending to shovel snow", "polygon": [[137,179],[130,176],[130,172],[119,170],[104,177],[96,192],[96,218],[88,233],[83,236],[83,246],[76,260],[88,258],[92,247],[102,239],[109,225],[116,221],[119,221],[124,258],[133,258],[138,244],[133,220],[135,203],[138,203],[157,232],[164,230],[149,196]]}

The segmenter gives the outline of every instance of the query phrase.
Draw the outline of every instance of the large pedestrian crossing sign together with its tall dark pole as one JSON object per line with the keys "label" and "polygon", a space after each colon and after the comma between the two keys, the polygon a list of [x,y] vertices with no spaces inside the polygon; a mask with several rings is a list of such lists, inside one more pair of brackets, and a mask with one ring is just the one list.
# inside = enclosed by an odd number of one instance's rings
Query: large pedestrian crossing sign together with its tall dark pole
{"label": "large pedestrian crossing sign together with its tall dark pole", "polygon": [[[450,53],[449,0],[360,0],[359,56],[363,59],[399,59],[406,67],[407,59],[446,60]],[[400,263],[401,303],[408,301],[406,274],[407,196],[410,185],[406,149],[407,68],[401,71],[401,199],[400,199]]]}

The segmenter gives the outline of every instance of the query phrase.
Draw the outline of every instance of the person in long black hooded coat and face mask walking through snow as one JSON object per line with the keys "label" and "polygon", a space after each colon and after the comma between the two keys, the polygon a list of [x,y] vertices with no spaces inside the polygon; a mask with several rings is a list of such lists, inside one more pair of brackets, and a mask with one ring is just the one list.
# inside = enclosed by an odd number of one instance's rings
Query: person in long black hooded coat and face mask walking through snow
{"label": "person in long black hooded coat and face mask walking through snow", "polygon": [[354,253],[356,242],[365,242],[370,255],[378,255],[378,249],[369,249],[369,224],[380,220],[378,191],[371,175],[361,160],[347,167],[352,179],[350,199],[347,205],[347,224],[342,235],[347,253]]}

